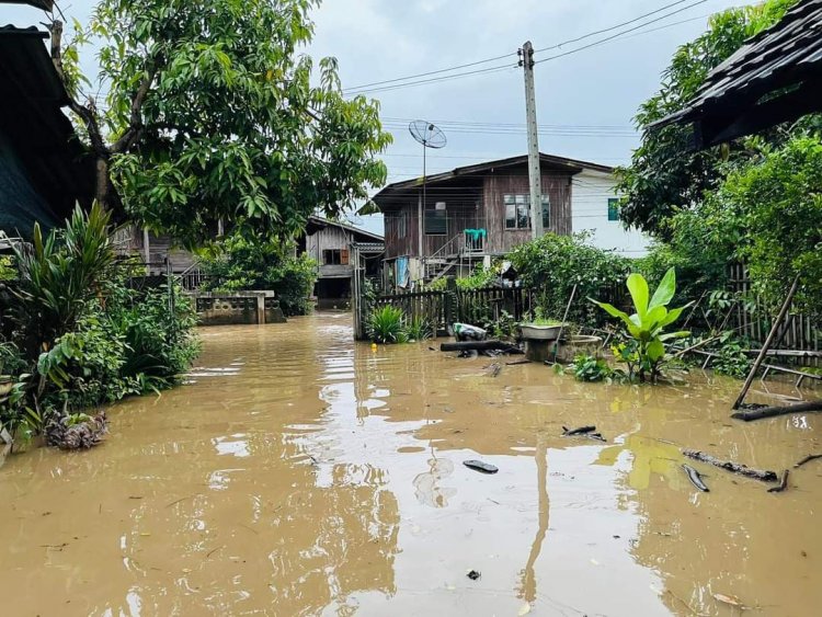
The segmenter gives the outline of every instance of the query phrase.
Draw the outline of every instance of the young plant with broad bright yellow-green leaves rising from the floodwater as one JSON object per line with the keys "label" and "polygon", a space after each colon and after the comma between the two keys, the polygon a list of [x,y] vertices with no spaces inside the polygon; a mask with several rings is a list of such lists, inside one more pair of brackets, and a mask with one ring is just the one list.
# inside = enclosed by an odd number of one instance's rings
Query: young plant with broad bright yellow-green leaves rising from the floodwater
{"label": "young plant with broad bright yellow-green leaves rising from the floodwater", "polygon": [[[667,308],[676,293],[676,272],[673,267],[665,273],[653,296],[650,295],[648,282],[641,274],[635,273],[628,276],[627,286],[633,300],[636,311],[633,315],[628,315],[608,302],[601,302],[593,298],[589,300],[612,317],[621,320],[625,325],[626,335],[629,339],[625,350],[631,353],[619,355],[628,364],[629,376],[631,378],[638,376],[640,381],[644,381],[648,376],[655,380],[660,375],[660,366],[665,359],[665,342],[690,334],[685,331],[665,333],[664,330],[680,319],[694,302],[680,308]],[[631,358],[630,355],[635,357]]]}

